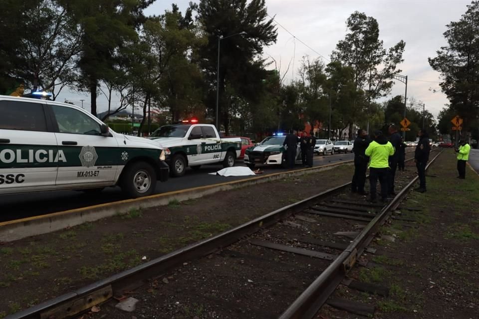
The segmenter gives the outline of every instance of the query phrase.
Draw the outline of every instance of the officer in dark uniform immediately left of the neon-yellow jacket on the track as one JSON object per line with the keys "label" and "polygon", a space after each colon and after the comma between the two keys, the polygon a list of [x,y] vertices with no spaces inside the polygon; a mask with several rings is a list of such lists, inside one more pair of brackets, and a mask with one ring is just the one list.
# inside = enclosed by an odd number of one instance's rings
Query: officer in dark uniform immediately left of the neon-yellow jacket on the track
{"label": "officer in dark uniform immediately left of the neon-yellow jacket on the track", "polygon": [[369,158],[364,154],[371,140],[365,130],[358,130],[358,137],[354,140],[354,175],[351,182],[351,191],[360,195],[366,195],[364,183],[366,182],[366,170],[368,169]]}

